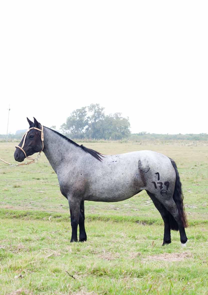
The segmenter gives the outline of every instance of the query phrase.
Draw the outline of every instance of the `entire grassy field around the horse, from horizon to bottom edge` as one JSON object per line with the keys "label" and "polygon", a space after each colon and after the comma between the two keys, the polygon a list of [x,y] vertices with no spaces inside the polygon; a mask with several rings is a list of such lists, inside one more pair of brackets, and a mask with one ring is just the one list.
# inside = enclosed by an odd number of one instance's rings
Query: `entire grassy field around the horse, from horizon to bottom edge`
{"label": "entire grassy field around the horse, from horizon to bottom edge", "polygon": [[[15,143],[0,143],[14,163]],[[70,243],[67,200],[44,154],[0,163],[0,294],[208,294],[208,143],[86,143],[104,154],[155,150],[173,158],[189,228],[162,247],[162,218],[146,192],[118,203],[85,202],[88,241]],[[51,216],[50,219],[48,219]]]}

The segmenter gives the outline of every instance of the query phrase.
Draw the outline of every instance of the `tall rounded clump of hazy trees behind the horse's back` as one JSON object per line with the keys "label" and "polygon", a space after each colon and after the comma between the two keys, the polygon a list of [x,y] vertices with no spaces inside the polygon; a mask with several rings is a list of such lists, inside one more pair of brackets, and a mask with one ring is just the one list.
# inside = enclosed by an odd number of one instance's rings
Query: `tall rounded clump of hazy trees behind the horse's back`
{"label": "tall rounded clump of hazy trees behind the horse's back", "polygon": [[61,131],[74,139],[119,140],[130,135],[130,123],[121,113],[105,115],[100,104],[90,104],[74,110]]}

